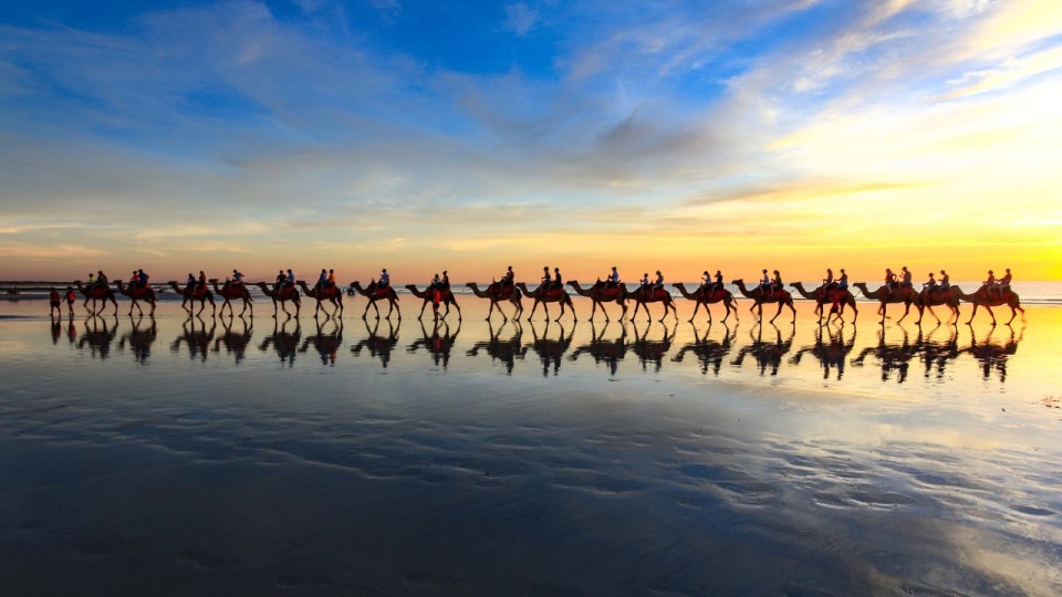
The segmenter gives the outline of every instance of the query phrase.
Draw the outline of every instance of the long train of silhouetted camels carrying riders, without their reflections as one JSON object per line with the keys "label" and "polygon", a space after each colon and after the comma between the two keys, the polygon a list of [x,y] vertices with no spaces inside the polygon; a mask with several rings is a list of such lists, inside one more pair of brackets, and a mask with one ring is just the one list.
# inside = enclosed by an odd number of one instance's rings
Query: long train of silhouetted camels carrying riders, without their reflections
{"label": "long train of silhouetted camels carrying riders, without their reflections", "polygon": [[[840,272],[841,275],[835,279],[833,270],[826,270],[826,276],[822,280],[822,283],[811,290],[805,287],[802,282],[789,284],[789,287],[793,289],[800,297],[815,303],[815,313],[819,315],[820,324],[822,324],[823,321],[825,321],[825,323],[833,322],[834,320],[844,321],[845,310],[852,313],[852,323],[855,323],[858,318],[860,311],[856,305],[855,293],[850,290],[848,275],[844,269],[840,270]],[[732,280],[730,284],[737,289],[741,297],[752,302],[749,312],[753,313],[758,321],[763,318],[763,305],[778,305],[774,315],[769,320],[770,323],[773,323],[785,308],[790,311],[792,321],[795,323],[796,307],[793,304],[793,294],[787,290],[779,271],[774,270],[773,275],[770,275],[767,270],[763,270],[762,274],[762,277],[752,287],[747,285],[743,279]],[[929,273],[928,281],[923,284],[920,290],[916,290],[912,282],[912,273],[905,266],[898,273],[893,273],[891,269],[886,269],[884,283],[876,290],[872,291],[864,282],[853,283],[851,284],[851,289],[861,292],[868,301],[878,303],[877,314],[882,316],[881,321],[883,324],[886,320],[887,307],[891,304],[904,306],[904,314],[897,322],[903,322],[910,314],[910,307],[914,306],[918,311],[917,324],[922,323],[926,311],[933,315],[937,323],[943,323],[933,307],[946,306],[950,311],[948,323],[957,324],[959,321],[959,305],[966,302],[974,305],[974,311],[967,323],[974,321],[979,307],[985,307],[995,325],[996,314],[992,312],[992,307],[1010,307],[1011,316],[1007,324],[1010,324],[1014,317],[1017,317],[1019,311],[1022,313],[1022,317],[1024,317],[1021,300],[1011,289],[1011,279],[1012,276],[1009,269],[1006,275],[998,280],[993,272],[989,271],[988,280],[986,280],[976,292],[967,294],[958,286],[952,286],[947,272],[940,270],[939,279],[936,277],[935,273]],[[150,306],[150,313],[154,314],[157,292],[162,292],[156,291],[148,284],[148,276],[144,273],[144,270],[133,272],[128,284],[119,280],[112,285],[102,271],[96,272],[94,275],[90,274],[87,284],[82,284],[81,281],[75,282],[75,284],[77,292],[84,296],[85,310],[92,315],[101,313],[106,308],[108,302],[114,305],[115,313],[117,313],[118,305],[116,294],[118,293],[127,296],[132,302],[129,314],[133,313],[134,308],[139,310],[140,314],[143,314],[144,310],[140,303],[147,303]],[[170,281],[167,285],[183,298],[181,307],[189,314],[202,314],[207,303],[210,303],[211,315],[217,314],[218,308],[215,302],[215,297],[217,296],[222,300],[222,314],[225,313],[225,308],[228,307],[229,315],[235,315],[232,303],[239,302],[242,307],[240,316],[243,316],[248,312],[250,312],[250,316],[254,316],[254,300],[248,287],[250,284],[243,281],[243,274],[240,273],[239,270],[232,270],[232,274],[226,277],[222,285],[219,285],[218,279],[216,277],[207,279],[202,271],[199,272],[198,277],[189,273],[187,283],[183,286],[176,281]],[[292,313],[288,311],[289,303],[294,307],[294,316],[298,317],[302,308],[302,298],[313,298],[315,301],[314,317],[317,317],[321,312],[324,312],[326,317],[342,317],[343,296],[346,294],[347,296],[361,295],[367,300],[365,310],[362,312],[362,318],[366,318],[368,310],[373,308],[375,310],[377,320],[381,317],[389,320],[392,314],[397,314],[398,320],[402,320],[402,310],[398,306],[398,293],[391,285],[391,275],[386,269],[382,270],[378,276],[374,276],[365,287],[356,280],[351,282],[345,289],[340,287],[335,282],[334,271],[324,269],[321,270],[321,275],[312,287],[303,280],[295,280],[290,269],[287,270],[287,272],[280,270],[277,280],[272,284],[257,282],[253,285],[258,286],[261,293],[272,301],[273,317],[277,317],[280,311],[283,311],[289,317],[292,316]],[[534,289],[530,289],[527,283],[516,282],[511,266],[502,274],[501,280],[492,281],[491,284],[485,289],[480,289],[476,282],[468,282],[465,286],[469,289],[473,296],[490,301],[487,320],[490,320],[493,316],[494,310],[497,310],[502,320],[508,322],[510,314],[507,314],[503,308],[506,303],[511,307],[511,317],[513,320],[520,318],[524,313],[523,300],[527,298],[532,302],[528,321],[534,316],[540,305],[545,313],[546,320],[550,320],[551,304],[560,307],[560,312],[553,321],[560,321],[568,312],[571,312],[573,322],[577,321],[575,305],[572,302],[572,295],[568,289],[571,289],[572,292],[580,296],[590,298],[590,320],[593,320],[597,315],[597,311],[601,310],[605,321],[612,321],[606,305],[616,305],[621,310],[618,316],[621,321],[624,318],[633,321],[641,310],[645,311],[646,321],[652,321],[653,316],[649,312],[649,305],[659,303],[664,307],[664,311],[658,321],[665,321],[668,315],[677,321],[677,298],[679,297],[694,303],[694,313],[689,318],[690,322],[697,317],[700,307],[704,306],[708,315],[708,323],[712,323],[710,306],[720,303],[725,310],[725,314],[720,320],[722,323],[727,322],[731,313],[735,318],[739,317],[737,298],[725,287],[723,276],[719,270],[716,271],[715,275],[709,274],[706,270],[700,285],[694,290],[688,290],[683,283],[671,284],[671,287],[678,292],[677,297],[665,287],[664,275],[659,271],[656,272],[655,279],[650,279],[648,272],[646,272],[636,287],[632,290],[628,284],[620,279],[615,266],[612,268],[612,272],[608,273],[604,280],[598,277],[589,286],[581,284],[577,280],[570,280],[565,283],[561,276],[560,268],[553,268],[551,272],[548,266],[543,268],[542,279]],[[436,274],[431,283],[423,291],[413,284],[407,284],[405,289],[414,297],[421,301],[418,318],[424,317],[425,311],[430,305],[436,320],[445,320],[450,314],[450,308],[452,307],[457,311],[457,317],[458,321],[460,321],[461,307],[457,303],[455,293],[450,290],[448,272],[444,271],[441,276]],[[72,293],[73,287],[69,286],[67,296],[73,296]],[[91,307],[88,306],[90,302],[92,302]],[[387,304],[388,310],[386,314],[381,313],[379,305],[377,304],[379,302]],[[98,311],[97,303],[100,304]],[[196,303],[199,303],[198,311],[196,311]],[[633,312],[629,312],[631,303],[634,303]],[[440,313],[440,308],[442,307],[445,307],[445,312]]]}

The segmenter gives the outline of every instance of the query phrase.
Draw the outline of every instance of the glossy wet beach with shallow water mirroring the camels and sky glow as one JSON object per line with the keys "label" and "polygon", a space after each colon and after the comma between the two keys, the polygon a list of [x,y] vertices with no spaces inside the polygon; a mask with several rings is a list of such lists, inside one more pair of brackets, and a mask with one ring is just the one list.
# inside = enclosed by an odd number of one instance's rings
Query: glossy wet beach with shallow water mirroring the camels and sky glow
{"label": "glossy wet beach with shallow water mirroring the camels and sky glow", "polygon": [[361,297],[317,322],[0,305],[0,584],[1062,593],[1062,308],[489,325],[460,301],[438,327],[409,296],[378,325]]}

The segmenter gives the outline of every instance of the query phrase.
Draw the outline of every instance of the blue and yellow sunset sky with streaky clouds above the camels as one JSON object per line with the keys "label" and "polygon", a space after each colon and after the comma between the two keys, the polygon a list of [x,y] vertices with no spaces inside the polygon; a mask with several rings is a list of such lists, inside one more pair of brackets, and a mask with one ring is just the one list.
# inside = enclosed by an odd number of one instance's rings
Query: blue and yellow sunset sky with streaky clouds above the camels
{"label": "blue and yellow sunset sky with streaky clouds above the camels", "polygon": [[0,279],[1062,280],[1062,2],[0,8]]}

